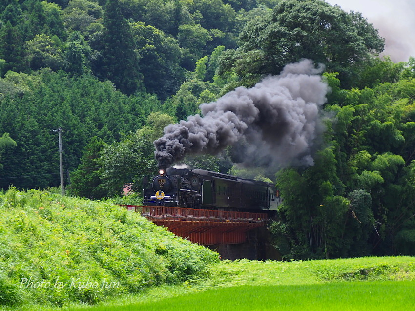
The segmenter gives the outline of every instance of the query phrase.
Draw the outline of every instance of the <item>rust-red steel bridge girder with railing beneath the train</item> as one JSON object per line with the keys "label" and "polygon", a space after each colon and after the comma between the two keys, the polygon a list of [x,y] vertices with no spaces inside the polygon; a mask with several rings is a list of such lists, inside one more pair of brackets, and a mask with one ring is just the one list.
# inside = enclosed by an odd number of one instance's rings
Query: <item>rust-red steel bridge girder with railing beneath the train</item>
{"label": "rust-red steel bridge girder with railing beneath the train", "polygon": [[237,244],[247,240],[249,230],[266,226],[266,213],[248,213],[182,207],[121,205],[139,212],[177,236],[202,245]]}

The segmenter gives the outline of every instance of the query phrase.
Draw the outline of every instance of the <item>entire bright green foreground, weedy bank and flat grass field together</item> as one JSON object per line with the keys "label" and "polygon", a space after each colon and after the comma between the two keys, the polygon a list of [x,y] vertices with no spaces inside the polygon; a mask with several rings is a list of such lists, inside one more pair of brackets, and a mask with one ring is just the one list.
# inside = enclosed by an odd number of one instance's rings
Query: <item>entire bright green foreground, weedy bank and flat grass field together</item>
{"label": "entire bright green foreground, weedy bank and flat grass field together", "polygon": [[[48,191],[0,192],[0,218],[0,310],[414,309],[414,257],[219,262],[110,202]],[[30,276],[120,288],[20,288]]]}

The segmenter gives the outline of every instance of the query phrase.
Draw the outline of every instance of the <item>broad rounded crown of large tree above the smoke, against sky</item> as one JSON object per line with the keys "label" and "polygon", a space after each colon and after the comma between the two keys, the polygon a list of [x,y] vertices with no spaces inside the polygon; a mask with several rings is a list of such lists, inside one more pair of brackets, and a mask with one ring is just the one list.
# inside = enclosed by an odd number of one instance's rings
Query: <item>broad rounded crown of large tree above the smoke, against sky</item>
{"label": "broad rounded crown of large tree above the smoke, against sky", "polygon": [[360,13],[346,13],[324,1],[281,1],[272,13],[249,21],[241,46],[222,70],[238,75],[278,74],[285,64],[309,58],[340,73],[342,83],[383,50],[383,39]]}

